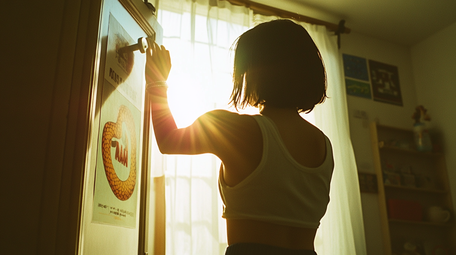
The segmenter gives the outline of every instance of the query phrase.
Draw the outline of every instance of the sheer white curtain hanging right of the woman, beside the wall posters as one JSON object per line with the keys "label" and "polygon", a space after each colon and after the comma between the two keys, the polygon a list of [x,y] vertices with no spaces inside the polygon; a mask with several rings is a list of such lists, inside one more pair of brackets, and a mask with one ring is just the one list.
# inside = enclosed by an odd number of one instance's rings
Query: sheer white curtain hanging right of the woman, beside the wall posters
{"label": "sheer white curtain hanging right of the woman, beside the wall posters", "polygon": [[[254,15],[254,23],[280,19],[277,16]],[[321,219],[315,239],[319,255],[365,255],[363,213],[359,193],[358,172],[350,140],[347,98],[342,74],[342,61],[334,32],[325,26],[300,23],[309,32],[320,50],[325,64],[327,98],[306,116],[331,140],[334,154],[330,202]]]}

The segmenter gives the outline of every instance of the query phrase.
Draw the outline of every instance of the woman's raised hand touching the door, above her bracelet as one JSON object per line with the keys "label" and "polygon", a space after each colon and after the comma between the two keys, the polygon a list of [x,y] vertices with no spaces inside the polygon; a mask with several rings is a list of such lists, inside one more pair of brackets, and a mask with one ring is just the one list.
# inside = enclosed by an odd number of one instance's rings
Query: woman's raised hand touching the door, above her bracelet
{"label": "woman's raised hand touching the door, above her bracelet", "polygon": [[165,46],[158,46],[155,41],[147,38],[149,47],[146,50],[145,81],[166,81],[171,70],[170,52]]}

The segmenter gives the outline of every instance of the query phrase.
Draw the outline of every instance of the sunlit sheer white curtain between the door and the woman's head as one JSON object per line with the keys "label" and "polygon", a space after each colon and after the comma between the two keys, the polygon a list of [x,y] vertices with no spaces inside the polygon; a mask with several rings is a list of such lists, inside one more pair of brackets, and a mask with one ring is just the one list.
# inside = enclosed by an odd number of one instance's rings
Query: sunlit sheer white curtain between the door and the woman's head
{"label": "sunlit sheer white curtain between the door and the woman's head", "polygon": [[[248,8],[227,1],[160,1],[158,21],[172,62],[168,98],[179,128],[210,110],[228,109],[233,88],[229,49],[249,29],[252,16]],[[220,160],[211,154],[164,155],[162,162],[166,255],[224,254],[228,245],[218,194]]]}

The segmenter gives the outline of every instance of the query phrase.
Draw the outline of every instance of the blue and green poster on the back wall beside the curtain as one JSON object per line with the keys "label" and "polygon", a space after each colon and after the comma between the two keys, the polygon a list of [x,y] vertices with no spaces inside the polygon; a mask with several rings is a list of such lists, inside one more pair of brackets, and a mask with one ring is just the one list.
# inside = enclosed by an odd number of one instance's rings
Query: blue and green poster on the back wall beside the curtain
{"label": "blue and green poster on the back wall beside the curtain", "polygon": [[365,58],[342,54],[347,95],[371,99],[368,66]]}

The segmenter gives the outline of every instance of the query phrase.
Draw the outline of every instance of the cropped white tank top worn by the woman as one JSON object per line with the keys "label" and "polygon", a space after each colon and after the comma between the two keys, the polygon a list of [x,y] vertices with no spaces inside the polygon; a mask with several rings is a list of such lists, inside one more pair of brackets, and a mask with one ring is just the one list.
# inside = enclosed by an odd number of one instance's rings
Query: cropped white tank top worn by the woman
{"label": "cropped white tank top worn by the woman", "polygon": [[222,217],[317,229],[329,203],[334,169],[331,142],[325,135],[325,161],[308,168],[291,157],[269,117],[253,117],[263,134],[263,156],[258,167],[234,187],[225,184],[220,174]]}

